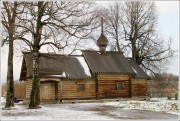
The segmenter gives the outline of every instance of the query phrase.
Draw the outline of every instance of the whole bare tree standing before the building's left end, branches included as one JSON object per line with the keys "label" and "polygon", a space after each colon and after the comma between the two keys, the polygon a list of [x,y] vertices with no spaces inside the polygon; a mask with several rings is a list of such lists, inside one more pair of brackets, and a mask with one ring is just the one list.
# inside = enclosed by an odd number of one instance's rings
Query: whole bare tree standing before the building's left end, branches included
{"label": "whole bare tree standing before the building's left end, branches included", "polygon": [[[32,39],[24,38],[33,54],[33,77],[29,108],[38,108],[40,104],[39,57],[42,46],[48,45],[63,50],[80,40],[87,39],[97,28],[92,16],[93,3],[90,2],[31,2],[26,12],[18,19],[26,26]],[[22,39],[22,38],[19,38]]]}

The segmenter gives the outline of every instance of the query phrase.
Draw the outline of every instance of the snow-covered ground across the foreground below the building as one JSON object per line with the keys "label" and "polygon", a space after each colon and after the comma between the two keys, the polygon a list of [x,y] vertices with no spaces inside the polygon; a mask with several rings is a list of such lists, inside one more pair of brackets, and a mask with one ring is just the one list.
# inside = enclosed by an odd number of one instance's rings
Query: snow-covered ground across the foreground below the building
{"label": "snow-covered ground across the foreground below the building", "polygon": [[[107,101],[107,100],[106,100]],[[1,97],[1,107],[5,99]],[[137,109],[137,110],[131,110]],[[151,110],[151,111],[148,111]],[[156,113],[154,111],[160,111]],[[164,112],[176,115],[166,114]],[[2,110],[2,120],[112,120],[112,119],[176,119],[178,101],[127,100],[101,103],[43,104],[40,109],[28,109],[22,102],[12,110]]]}

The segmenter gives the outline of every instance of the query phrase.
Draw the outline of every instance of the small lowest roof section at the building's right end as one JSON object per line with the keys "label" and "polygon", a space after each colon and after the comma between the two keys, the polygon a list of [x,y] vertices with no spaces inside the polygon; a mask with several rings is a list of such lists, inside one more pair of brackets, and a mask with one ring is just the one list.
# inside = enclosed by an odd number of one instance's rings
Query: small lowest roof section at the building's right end
{"label": "small lowest roof section at the building's right end", "polygon": [[136,79],[150,79],[150,77],[140,68],[140,66],[133,59],[127,60],[131,65],[133,71],[135,72]]}

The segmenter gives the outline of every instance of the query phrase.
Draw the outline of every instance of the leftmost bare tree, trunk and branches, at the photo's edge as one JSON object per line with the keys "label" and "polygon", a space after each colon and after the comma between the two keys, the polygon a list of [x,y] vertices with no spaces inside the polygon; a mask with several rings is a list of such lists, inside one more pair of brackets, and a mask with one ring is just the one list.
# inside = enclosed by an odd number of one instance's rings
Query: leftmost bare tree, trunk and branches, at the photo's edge
{"label": "leftmost bare tree, trunk and branches, at the photo's edge", "polygon": [[[8,71],[7,71],[7,96],[5,109],[14,106],[14,78],[13,78],[13,43],[17,36],[23,36],[26,32],[17,30],[17,16],[23,12],[23,2],[3,2],[2,25],[3,36],[2,45],[9,46]],[[18,23],[20,24],[20,23]]]}

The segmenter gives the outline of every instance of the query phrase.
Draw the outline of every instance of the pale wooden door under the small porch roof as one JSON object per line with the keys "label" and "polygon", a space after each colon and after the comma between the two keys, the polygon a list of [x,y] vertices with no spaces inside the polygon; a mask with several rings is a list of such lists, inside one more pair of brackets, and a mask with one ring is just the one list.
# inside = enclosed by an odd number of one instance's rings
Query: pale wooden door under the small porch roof
{"label": "pale wooden door under the small porch roof", "polygon": [[54,101],[55,100],[55,83],[54,82],[41,82],[40,98],[41,98],[41,101]]}

